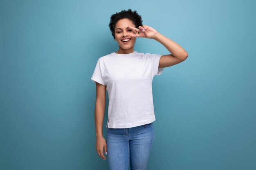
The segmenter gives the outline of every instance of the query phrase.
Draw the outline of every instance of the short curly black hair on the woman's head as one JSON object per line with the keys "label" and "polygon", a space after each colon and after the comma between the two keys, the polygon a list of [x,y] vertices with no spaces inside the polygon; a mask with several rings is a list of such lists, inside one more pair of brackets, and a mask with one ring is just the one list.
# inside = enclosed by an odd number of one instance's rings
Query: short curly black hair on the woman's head
{"label": "short curly black hair on the woman's head", "polygon": [[131,9],[128,10],[122,10],[119,13],[112,14],[110,17],[110,23],[109,23],[109,28],[112,33],[112,36],[115,39],[115,26],[117,21],[123,19],[123,18],[128,18],[129,20],[132,20],[133,24],[135,24],[135,27],[138,28],[139,26],[142,26],[142,19],[141,15],[137,13],[137,11],[132,11]]}

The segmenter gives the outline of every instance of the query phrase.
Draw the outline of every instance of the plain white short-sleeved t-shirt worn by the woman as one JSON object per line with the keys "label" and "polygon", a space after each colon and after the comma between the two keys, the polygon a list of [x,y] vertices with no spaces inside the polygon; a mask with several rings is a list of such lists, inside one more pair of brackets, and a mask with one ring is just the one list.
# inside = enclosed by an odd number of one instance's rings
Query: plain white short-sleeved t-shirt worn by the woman
{"label": "plain white short-sleeved t-shirt worn by the woman", "polygon": [[162,55],[150,53],[117,54],[100,57],[93,82],[108,91],[108,128],[132,128],[155,121],[152,81],[164,68],[158,68]]}

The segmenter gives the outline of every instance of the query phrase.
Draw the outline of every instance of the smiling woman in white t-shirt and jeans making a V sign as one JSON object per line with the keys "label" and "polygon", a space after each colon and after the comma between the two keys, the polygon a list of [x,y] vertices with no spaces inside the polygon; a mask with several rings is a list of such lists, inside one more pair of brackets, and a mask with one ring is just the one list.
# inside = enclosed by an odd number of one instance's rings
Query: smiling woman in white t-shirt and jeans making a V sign
{"label": "smiling woman in white t-shirt and jeans making a V sign", "polygon": [[[108,157],[110,170],[146,170],[154,140],[155,121],[152,80],[164,67],[183,62],[188,53],[157,30],[143,25],[137,11],[122,10],[110,18],[110,31],[119,50],[97,61],[92,75],[96,83],[95,127],[99,157]],[[171,54],[134,51],[136,38],[163,44]],[[108,90],[107,141],[102,134]]]}

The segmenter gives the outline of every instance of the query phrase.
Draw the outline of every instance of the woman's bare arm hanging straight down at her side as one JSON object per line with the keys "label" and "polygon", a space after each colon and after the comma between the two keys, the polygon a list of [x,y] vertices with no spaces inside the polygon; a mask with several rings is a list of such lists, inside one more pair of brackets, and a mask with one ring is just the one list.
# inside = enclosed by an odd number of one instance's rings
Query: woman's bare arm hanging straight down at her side
{"label": "woman's bare arm hanging straight down at her side", "polygon": [[106,140],[102,134],[102,126],[106,108],[106,86],[96,82],[96,102],[95,102],[95,129],[96,129],[96,150],[99,157],[106,159],[103,154],[103,148],[105,153],[107,152]]}

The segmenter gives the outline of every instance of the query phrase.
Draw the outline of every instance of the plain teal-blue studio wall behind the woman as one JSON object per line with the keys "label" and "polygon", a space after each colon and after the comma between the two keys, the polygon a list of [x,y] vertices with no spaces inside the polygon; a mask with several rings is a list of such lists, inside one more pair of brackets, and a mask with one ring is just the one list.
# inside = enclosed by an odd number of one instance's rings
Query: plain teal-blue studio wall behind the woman
{"label": "plain teal-blue studio wall behind the woman", "polygon": [[[90,78],[118,50],[110,16],[128,8],[189,53],[153,79],[148,170],[255,170],[253,0],[1,0],[0,169],[108,169],[95,149]],[[135,51],[169,54],[146,38]]]}

